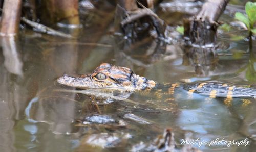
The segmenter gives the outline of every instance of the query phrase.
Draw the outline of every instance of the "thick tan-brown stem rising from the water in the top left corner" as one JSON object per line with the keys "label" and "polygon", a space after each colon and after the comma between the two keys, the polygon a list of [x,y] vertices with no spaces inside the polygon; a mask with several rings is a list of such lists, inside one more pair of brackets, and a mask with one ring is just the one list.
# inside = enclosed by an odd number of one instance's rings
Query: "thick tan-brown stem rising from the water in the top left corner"
{"label": "thick tan-brown stem rising from the water in the top left corner", "polygon": [[1,36],[14,36],[18,33],[22,0],[5,1],[1,19]]}

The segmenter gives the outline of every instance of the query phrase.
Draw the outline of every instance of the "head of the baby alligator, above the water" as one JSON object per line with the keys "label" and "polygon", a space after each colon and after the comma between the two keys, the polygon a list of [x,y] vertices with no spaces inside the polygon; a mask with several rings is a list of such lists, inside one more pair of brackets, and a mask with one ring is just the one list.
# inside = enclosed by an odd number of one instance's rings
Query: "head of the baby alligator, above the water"
{"label": "head of the baby alligator, above the water", "polygon": [[156,87],[156,82],[140,77],[126,67],[102,63],[91,74],[72,77],[64,74],[57,79],[62,85],[77,88],[104,88],[122,90],[143,90]]}

